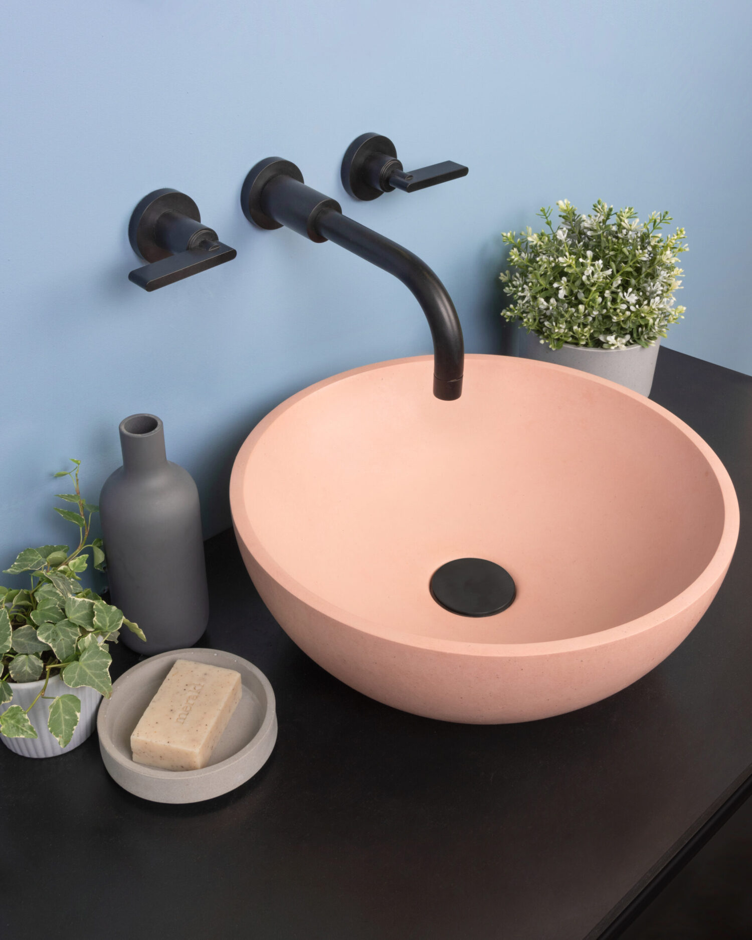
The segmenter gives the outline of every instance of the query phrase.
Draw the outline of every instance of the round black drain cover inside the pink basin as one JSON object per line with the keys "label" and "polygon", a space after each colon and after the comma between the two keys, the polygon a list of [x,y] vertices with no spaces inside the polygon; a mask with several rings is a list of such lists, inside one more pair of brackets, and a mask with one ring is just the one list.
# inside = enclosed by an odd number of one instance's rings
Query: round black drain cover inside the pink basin
{"label": "round black drain cover inside the pink basin", "polygon": [[433,600],[462,617],[500,614],[515,592],[511,574],[485,558],[455,558],[431,577]]}

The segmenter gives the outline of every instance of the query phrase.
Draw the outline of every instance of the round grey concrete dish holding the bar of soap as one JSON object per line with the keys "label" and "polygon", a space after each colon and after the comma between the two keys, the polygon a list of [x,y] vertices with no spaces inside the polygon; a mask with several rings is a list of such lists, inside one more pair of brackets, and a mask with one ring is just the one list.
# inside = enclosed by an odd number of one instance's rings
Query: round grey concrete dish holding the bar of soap
{"label": "round grey concrete dish holding the bar of soap", "polygon": [[[134,763],[131,733],[176,659],[236,669],[243,697],[201,770],[169,771]],[[125,790],[154,803],[198,803],[235,790],[269,759],[276,741],[274,691],[247,660],[223,650],[170,650],[133,666],[113,685],[97,718],[107,773]]]}

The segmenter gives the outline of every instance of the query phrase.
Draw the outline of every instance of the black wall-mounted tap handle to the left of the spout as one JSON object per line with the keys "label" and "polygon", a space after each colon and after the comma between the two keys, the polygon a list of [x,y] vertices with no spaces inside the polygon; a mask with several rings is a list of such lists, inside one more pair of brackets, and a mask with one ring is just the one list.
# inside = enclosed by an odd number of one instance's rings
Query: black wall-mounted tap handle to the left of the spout
{"label": "black wall-mounted tap handle to the left of the spout", "polygon": [[138,203],[131,215],[128,238],[133,251],[150,264],[128,275],[144,290],[158,290],[237,255],[217,233],[201,223],[190,196],[175,189],[156,189]]}

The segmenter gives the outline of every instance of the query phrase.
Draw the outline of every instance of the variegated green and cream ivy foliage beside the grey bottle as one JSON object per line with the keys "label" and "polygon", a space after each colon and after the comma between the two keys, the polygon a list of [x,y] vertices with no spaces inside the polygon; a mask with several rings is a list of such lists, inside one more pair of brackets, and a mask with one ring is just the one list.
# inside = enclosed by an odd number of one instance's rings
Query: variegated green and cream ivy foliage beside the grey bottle
{"label": "variegated green and cream ivy foliage beside the grey bottle", "polygon": [[[58,493],[68,508],[55,512],[78,529],[78,545],[41,545],[26,548],[6,569],[8,574],[28,572],[29,586],[0,587],[0,705],[12,701],[13,687],[43,679],[39,695],[28,708],[9,705],[0,714],[0,733],[8,738],[36,738],[29,712],[40,698],[50,699],[48,728],[58,744],[70,743],[81,713],[81,700],[72,694],[45,695],[50,677],[58,675],[71,689],[89,686],[109,697],[112,691],[108,643],[117,641],[125,626],[145,640],[138,625],[99,594],[81,586],[80,574],[89,560],[104,571],[102,539],[88,540],[97,506],[86,502],[79,487],[81,462],[55,477],[69,477],[74,493]],[[89,554],[90,553],[90,554]]]}

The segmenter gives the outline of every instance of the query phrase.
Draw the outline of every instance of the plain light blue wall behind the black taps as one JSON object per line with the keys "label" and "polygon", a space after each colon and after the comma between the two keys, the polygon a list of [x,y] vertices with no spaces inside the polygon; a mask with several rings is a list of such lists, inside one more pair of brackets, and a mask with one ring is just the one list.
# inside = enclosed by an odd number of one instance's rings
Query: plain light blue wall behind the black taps
{"label": "plain light blue wall behind the black taps", "polygon": [[[565,196],[667,208],[691,246],[667,345],[752,371],[750,25],[746,0],[8,6],[0,567],[68,534],[50,474],[81,458],[95,498],[123,416],[164,419],[211,535],[260,415],[333,372],[430,351],[397,281],[247,224],[243,177],[272,154],[425,258],[471,352],[499,348],[500,231]],[[338,165],[368,130],[408,166],[451,159],[470,175],[356,203]],[[127,280],[127,224],[159,186],[193,196],[238,258],[147,294]]]}

